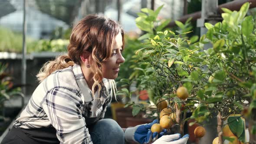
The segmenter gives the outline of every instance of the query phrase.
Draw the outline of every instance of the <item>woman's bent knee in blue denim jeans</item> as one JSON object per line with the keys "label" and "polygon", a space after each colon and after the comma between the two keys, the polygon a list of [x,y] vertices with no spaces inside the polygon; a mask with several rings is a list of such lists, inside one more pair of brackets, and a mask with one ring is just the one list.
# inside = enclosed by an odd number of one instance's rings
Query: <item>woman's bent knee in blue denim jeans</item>
{"label": "woman's bent knee in blue denim jeans", "polygon": [[113,119],[102,119],[89,126],[93,144],[125,144],[125,133]]}

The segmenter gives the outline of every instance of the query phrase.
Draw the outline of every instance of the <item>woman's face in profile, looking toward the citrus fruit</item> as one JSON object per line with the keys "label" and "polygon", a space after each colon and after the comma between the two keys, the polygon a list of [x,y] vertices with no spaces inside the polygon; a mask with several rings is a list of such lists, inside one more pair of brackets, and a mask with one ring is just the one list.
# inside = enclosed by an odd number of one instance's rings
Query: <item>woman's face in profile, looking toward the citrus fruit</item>
{"label": "woman's face in profile, looking toward the citrus fruit", "polygon": [[113,54],[111,58],[102,63],[102,74],[106,79],[116,79],[119,72],[120,64],[125,62],[124,57],[122,56],[122,35],[118,33],[115,36],[115,44],[113,47]]}

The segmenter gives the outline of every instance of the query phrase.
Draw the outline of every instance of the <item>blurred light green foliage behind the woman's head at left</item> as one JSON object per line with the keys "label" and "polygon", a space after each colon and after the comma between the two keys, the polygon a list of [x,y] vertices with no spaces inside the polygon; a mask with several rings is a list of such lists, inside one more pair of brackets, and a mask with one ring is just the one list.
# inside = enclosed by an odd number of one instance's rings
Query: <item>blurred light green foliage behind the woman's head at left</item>
{"label": "blurred light green foliage behind the woman's head at left", "polygon": [[[59,28],[52,33],[52,39],[26,38],[27,53],[31,52],[66,52],[69,44],[70,29],[62,32]],[[0,27],[0,51],[22,52],[22,33],[15,33],[6,27]]]}

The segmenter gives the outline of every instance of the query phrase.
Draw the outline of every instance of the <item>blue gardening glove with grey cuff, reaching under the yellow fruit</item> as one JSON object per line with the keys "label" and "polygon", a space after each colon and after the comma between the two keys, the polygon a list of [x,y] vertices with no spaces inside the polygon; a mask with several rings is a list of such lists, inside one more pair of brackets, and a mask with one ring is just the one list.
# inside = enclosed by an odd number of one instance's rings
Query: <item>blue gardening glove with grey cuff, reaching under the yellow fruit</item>
{"label": "blue gardening glove with grey cuff, reaching under the yellow fruit", "polygon": [[151,126],[156,123],[158,123],[157,119],[149,124],[141,124],[132,128],[127,128],[125,130],[125,140],[135,141],[140,144],[148,144],[157,140],[158,137],[163,136],[167,130],[163,129],[163,131],[159,135],[158,132],[152,133]]}

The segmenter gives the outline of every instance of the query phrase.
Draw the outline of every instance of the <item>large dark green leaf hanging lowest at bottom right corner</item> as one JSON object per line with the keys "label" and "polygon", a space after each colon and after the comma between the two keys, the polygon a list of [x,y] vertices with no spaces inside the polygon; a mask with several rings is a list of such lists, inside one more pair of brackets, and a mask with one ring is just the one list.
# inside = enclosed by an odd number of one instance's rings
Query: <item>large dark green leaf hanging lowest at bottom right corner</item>
{"label": "large dark green leaf hanging lowest at bottom right corner", "polygon": [[228,119],[228,126],[233,134],[235,134],[240,141],[245,142],[245,127],[244,121],[240,116],[230,116]]}

